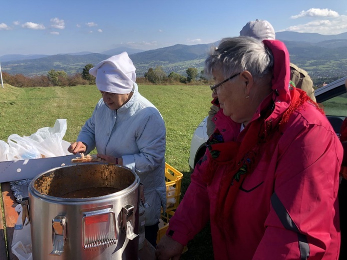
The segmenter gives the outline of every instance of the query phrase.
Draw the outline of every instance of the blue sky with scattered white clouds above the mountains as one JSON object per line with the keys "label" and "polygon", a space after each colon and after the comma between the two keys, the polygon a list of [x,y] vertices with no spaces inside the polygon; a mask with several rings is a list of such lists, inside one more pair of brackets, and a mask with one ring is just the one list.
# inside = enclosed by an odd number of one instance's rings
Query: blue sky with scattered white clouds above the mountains
{"label": "blue sky with scattered white clouds above the mountains", "polygon": [[[0,56],[102,52],[118,46],[156,49],[238,36],[268,20],[275,31],[347,31],[345,0],[4,0]],[[0,60],[1,61],[1,60]]]}

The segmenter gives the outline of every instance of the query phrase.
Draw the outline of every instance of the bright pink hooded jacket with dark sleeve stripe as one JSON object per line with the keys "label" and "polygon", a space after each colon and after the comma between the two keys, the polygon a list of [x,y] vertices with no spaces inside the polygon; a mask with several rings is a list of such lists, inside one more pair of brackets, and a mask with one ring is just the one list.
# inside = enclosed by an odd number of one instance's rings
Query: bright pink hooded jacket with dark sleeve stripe
{"label": "bright pink hooded jacket with dark sleeve stripe", "polygon": [[[264,43],[275,58],[274,75],[279,75],[272,81],[276,107],[267,118],[271,123],[290,102],[289,55],[280,41]],[[253,119],[258,116],[257,111]],[[240,124],[222,109],[214,119],[224,140],[241,140],[247,130],[240,132]],[[343,150],[330,123],[308,103],[291,114],[279,139],[266,147],[232,205],[233,233],[221,231],[214,221],[223,169],[218,168],[207,185],[201,179],[203,157],[166,234],[185,245],[211,220],[215,259],[338,259],[337,190]]]}

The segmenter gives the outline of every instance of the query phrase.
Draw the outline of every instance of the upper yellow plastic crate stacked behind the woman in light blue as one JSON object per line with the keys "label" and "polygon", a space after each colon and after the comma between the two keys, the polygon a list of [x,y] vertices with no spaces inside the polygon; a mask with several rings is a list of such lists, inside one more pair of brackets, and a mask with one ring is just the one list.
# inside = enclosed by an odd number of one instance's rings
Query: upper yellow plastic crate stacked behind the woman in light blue
{"label": "upper yellow plastic crate stacked behind the woman in light blue", "polygon": [[180,203],[182,178],[181,172],[165,163],[166,212],[176,209]]}

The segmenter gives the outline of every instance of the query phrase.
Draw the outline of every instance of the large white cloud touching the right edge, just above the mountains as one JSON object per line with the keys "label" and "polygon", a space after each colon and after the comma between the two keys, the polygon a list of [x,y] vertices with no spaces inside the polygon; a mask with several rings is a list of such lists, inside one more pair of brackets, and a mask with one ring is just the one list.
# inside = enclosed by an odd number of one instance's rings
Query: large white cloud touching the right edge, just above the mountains
{"label": "large white cloud touching the right edge, just above the mountains", "polygon": [[330,19],[316,19],[304,24],[285,28],[287,31],[316,32],[325,35],[339,34],[347,31],[347,15],[339,15]]}

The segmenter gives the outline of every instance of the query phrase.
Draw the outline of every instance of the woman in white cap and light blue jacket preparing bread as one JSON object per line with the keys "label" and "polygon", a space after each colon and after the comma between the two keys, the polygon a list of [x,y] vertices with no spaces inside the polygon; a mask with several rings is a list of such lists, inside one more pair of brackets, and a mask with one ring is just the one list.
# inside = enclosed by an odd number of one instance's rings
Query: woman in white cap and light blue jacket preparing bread
{"label": "woman in white cap and light blue jacket preparing bread", "polygon": [[102,98],[68,150],[97,156],[135,171],[144,185],[146,239],[156,245],[161,207],[166,208],[166,128],[158,109],[139,91],[135,66],[127,52],[89,70]]}

